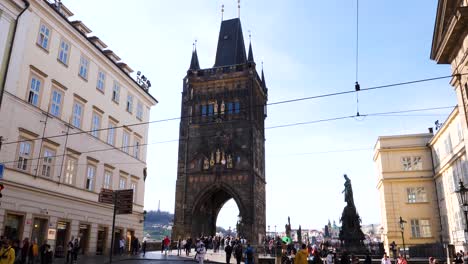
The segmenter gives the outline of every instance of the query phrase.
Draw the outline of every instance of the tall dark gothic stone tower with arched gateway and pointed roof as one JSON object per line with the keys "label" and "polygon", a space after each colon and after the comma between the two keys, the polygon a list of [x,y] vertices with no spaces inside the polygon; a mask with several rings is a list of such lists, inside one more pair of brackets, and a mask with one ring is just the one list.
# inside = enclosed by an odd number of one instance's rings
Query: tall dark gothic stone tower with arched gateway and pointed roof
{"label": "tall dark gothic stone tower with arched gateway and pointed roof", "polygon": [[183,80],[172,238],[215,235],[231,198],[239,233],[252,244],[265,235],[267,88],[246,56],[241,22],[222,21],[216,62],[200,69],[196,49]]}

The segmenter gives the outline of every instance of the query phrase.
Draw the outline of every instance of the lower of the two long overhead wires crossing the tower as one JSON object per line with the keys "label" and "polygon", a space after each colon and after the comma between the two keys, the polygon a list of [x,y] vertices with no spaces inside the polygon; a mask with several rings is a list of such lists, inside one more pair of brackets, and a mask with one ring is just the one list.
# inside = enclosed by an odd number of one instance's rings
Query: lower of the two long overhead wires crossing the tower
{"label": "lower of the two long overhead wires crossing the tower", "polygon": [[[454,107],[455,106],[442,106],[442,107],[432,107],[432,108],[409,109],[409,110],[400,110],[400,111],[391,111],[391,112],[369,113],[369,114],[364,114],[364,115],[360,115],[360,116],[366,116],[366,117],[367,116],[381,116],[381,117],[383,117],[383,116],[385,116],[385,114],[401,114],[401,113],[411,113],[411,112],[433,111],[433,110],[449,109],[449,108],[454,108]],[[318,119],[318,120],[312,120],[312,121],[276,125],[276,126],[266,127],[265,130],[266,129],[292,127],[292,126],[300,126],[300,125],[309,125],[309,124],[316,124],[316,123],[324,123],[324,122],[330,122],[330,121],[338,121],[338,120],[344,120],[344,119],[351,119],[351,118],[355,118],[355,117],[357,117],[357,115],[332,117],[332,118]],[[214,137],[214,136],[217,136],[217,134],[194,136],[194,137],[191,137],[191,139],[206,138],[206,137],[211,138],[211,137]],[[186,140],[186,139],[179,138],[179,139],[165,140],[165,141],[159,141],[159,142],[153,142],[153,143],[142,143],[142,144],[139,144],[138,146],[143,147],[143,146],[163,144],[163,143],[169,143],[169,142],[178,142],[178,141],[184,141],[184,140]],[[95,150],[89,150],[89,151],[80,151],[80,153],[81,154],[86,154],[86,153],[96,153],[96,152],[104,152],[104,151],[110,151],[110,150],[122,150],[122,149],[125,149],[125,148],[130,149],[130,148],[133,148],[135,146],[136,145],[129,145],[129,146],[125,146],[125,147],[123,147],[123,146],[121,146],[121,147],[110,147],[110,148],[95,149]],[[57,155],[52,155],[52,156],[47,156],[47,157],[56,158],[56,157],[62,157],[64,155],[67,155],[67,154],[63,153],[63,154],[57,154]],[[29,159],[29,161],[39,160],[39,159],[43,159],[43,158],[44,158],[44,156],[39,156],[37,158]],[[10,160],[10,161],[0,162],[0,163],[9,164],[9,163],[16,163],[16,162],[18,162],[18,160]],[[141,161],[140,163],[145,163],[145,162]]]}

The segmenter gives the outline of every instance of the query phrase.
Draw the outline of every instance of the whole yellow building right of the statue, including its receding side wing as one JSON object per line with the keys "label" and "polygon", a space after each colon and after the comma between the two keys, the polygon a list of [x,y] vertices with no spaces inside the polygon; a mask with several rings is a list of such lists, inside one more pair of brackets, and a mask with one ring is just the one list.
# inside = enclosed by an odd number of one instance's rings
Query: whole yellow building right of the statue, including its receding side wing
{"label": "whole yellow building right of the statue, including its receding side wing", "polygon": [[468,181],[464,131],[455,107],[435,134],[379,137],[374,161],[387,250],[392,241],[402,245],[400,216],[407,221],[407,245],[438,243],[452,252],[467,250],[455,193],[460,180]]}

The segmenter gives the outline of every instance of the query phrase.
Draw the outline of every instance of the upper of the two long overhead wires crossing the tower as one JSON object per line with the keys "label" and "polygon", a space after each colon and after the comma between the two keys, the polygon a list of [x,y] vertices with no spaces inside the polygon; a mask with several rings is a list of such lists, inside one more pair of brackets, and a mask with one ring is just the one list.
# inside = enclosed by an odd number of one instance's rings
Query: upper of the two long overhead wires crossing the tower
{"label": "upper of the two long overhead wires crossing the tower", "polygon": [[[362,89],[360,89],[360,91],[371,91],[371,90],[384,89],[384,88],[390,88],[390,87],[395,87],[395,86],[402,86],[402,85],[429,82],[429,81],[435,81],[435,80],[442,80],[442,79],[453,78],[453,77],[462,76],[462,75],[468,75],[468,73],[446,75],[446,76],[440,76],[440,77],[434,77],[434,78],[419,79],[419,80],[414,80],[414,81],[407,81],[407,82],[386,84],[386,85],[380,85],[380,86],[373,86],[373,87],[368,87],[368,88],[362,88]],[[319,98],[325,98],[325,97],[345,95],[345,94],[350,94],[350,93],[355,93],[355,92],[356,92],[355,90],[351,90],[351,91],[328,93],[328,94],[321,94],[321,95],[308,96],[308,97],[300,97],[300,98],[295,98],[295,99],[288,99],[288,100],[282,100],[282,101],[267,103],[266,105],[267,106],[273,106],[273,105],[287,104],[287,103],[307,101],[307,100],[313,100],[313,99],[319,99]],[[264,105],[254,105],[254,107],[262,107],[263,108]],[[240,110],[246,110],[246,109],[249,109],[249,107],[241,107],[240,108]],[[362,116],[362,115],[360,115],[360,116]],[[99,129],[93,129],[93,130],[81,130],[81,131],[77,131],[77,132],[68,133],[68,135],[67,134],[57,134],[57,135],[52,135],[52,136],[47,136],[47,137],[16,140],[16,141],[8,141],[8,142],[3,142],[3,145],[10,145],[10,144],[17,144],[17,143],[21,143],[21,142],[31,142],[31,141],[36,141],[36,140],[59,138],[59,137],[73,136],[73,135],[80,135],[80,134],[87,134],[87,133],[91,133],[91,132],[94,132],[94,131],[106,131],[106,130],[109,130],[109,129],[118,129],[118,128],[124,128],[124,127],[133,127],[133,126],[148,125],[148,124],[154,124],[154,123],[169,122],[169,121],[175,121],[175,120],[181,120],[181,119],[193,118],[193,117],[202,117],[202,115],[201,114],[200,115],[187,115],[187,116],[180,116],[180,117],[165,118],[165,119],[159,119],[159,120],[153,120],[153,121],[147,121],[147,122],[138,122],[138,123],[133,123],[133,124],[120,125],[120,126],[115,126],[113,128],[99,128]],[[65,124],[68,124],[68,123],[65,123]]]}

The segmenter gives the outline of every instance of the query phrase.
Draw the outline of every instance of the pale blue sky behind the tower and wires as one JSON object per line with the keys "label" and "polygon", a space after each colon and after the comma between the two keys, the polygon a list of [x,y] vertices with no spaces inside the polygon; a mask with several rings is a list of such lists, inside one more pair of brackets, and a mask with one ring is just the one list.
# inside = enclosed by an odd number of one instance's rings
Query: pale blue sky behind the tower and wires
{"label": "pale blue sky behind the tower and wires", "polygon": [[[214,64],[221,21],[237,17],[237,1],[64,0],[93,33],[153,84],[159,104],[151,120],[180,116],[182,79],[198,40],[202,68]],[[359,83],[361,88],[450,74],[429,59],[436,0],[359,1]],[[264,61],[269,102],[354,89],[355,1],[241,2],[258,68]],[[449,79],[366,91],[361,114],[452,106]],[[380,223],[376,171],[372,160],[378,136],[426,132],[450,110],[403,116],[366,117],[266,130],[267,225],[318,228],[339,220],[345,206],[343,174],[351,178],[363,223]],[[268,107],[266,127],[348,116],[356,95],[341,95]],[[179,122],[150,125],[148,142],[178,138]],[[173,211],[177,142],[148,147],[145,208]],[[353,150],[353,151],[349,151]],[[330,152],[333,151],[333,152]],[[336,152],[334,152],[336,151]],[[328,153],[324,153],[328,152]],[[306,154],[308,153],[308,154]],[[235,226],[237,208],[228,202],[218,225]]]}

